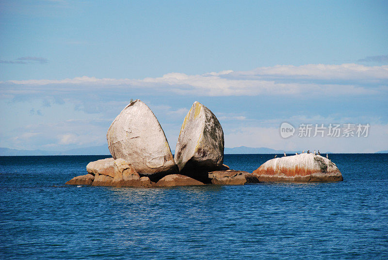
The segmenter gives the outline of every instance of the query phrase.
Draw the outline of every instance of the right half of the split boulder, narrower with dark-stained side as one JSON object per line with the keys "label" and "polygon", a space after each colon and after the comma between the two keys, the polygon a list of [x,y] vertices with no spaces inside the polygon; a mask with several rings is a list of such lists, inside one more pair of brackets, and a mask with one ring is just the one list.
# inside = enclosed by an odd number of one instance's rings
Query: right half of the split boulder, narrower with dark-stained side
{"label": "right half of the split boulder, narrower with dark-stained side", "polygon": [[217,118],[199,102],[194,102],[180,129],[175,162],[181,174],[207,178],[224,161],[224,132]]}

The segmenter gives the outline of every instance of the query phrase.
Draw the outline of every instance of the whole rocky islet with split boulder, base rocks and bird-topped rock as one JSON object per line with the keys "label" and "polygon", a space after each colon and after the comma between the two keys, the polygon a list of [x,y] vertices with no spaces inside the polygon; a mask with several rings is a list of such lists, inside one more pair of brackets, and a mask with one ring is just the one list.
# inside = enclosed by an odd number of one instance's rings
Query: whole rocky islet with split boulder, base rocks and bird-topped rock
{"label": "whole rocky islet with split boulder, base rocks and bird-topped rock", "polygon": [[231,170],[224,162],[224,132],[216,116],[194,102],[183,120],[175,158],[151,109],[136,99],[107,132],[112,158],[90,162],[88,174],[65,184],[114,187],[242,185],[261,181],[341,181],[335,163],[312,153],[275,158],[253,173]]}

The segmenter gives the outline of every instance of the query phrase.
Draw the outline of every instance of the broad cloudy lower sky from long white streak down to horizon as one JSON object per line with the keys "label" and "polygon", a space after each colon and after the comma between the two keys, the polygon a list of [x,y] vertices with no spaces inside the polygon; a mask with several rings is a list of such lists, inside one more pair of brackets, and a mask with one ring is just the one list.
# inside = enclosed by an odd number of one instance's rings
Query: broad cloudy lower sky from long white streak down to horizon
{"label": "broad cloudy lower sky from long white streak down to horizon", "polygon": [[[222,123],[226,147],[373,152],[388,146],[388,66],[278,65],[249,71],[162,77],[0,81],[4,116],[0,146],[28,149],[101,145],[110,122],[129,98],[153,110],[174,149],[193,101]],[[278,126],[299,123],[370,123],[366,139],[284,140]]]}

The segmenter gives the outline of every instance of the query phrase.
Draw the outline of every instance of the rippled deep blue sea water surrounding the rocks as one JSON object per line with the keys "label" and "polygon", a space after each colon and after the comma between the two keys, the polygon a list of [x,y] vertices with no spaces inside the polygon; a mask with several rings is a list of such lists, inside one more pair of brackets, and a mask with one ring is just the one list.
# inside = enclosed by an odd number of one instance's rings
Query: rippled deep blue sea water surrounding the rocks
{"label": "rippled deep blue sea water surrounding the rocks", "polygon": [[333,183],[64,185],[105,157],[0,157],[0,259],[388,259],[388,154],[330,154]]}

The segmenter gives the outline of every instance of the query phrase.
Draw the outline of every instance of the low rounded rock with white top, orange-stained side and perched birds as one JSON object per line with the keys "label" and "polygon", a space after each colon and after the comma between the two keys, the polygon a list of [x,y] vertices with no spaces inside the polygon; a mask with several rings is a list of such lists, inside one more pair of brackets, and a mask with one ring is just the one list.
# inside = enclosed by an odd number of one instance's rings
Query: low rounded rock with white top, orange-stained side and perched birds
{"label": "low rounded rock with white top, orange-stained side and perched birds", "polygon": [[253,174],[259,181],[341,181],[342,174],[330,160],[312,153],[275,158]]}

